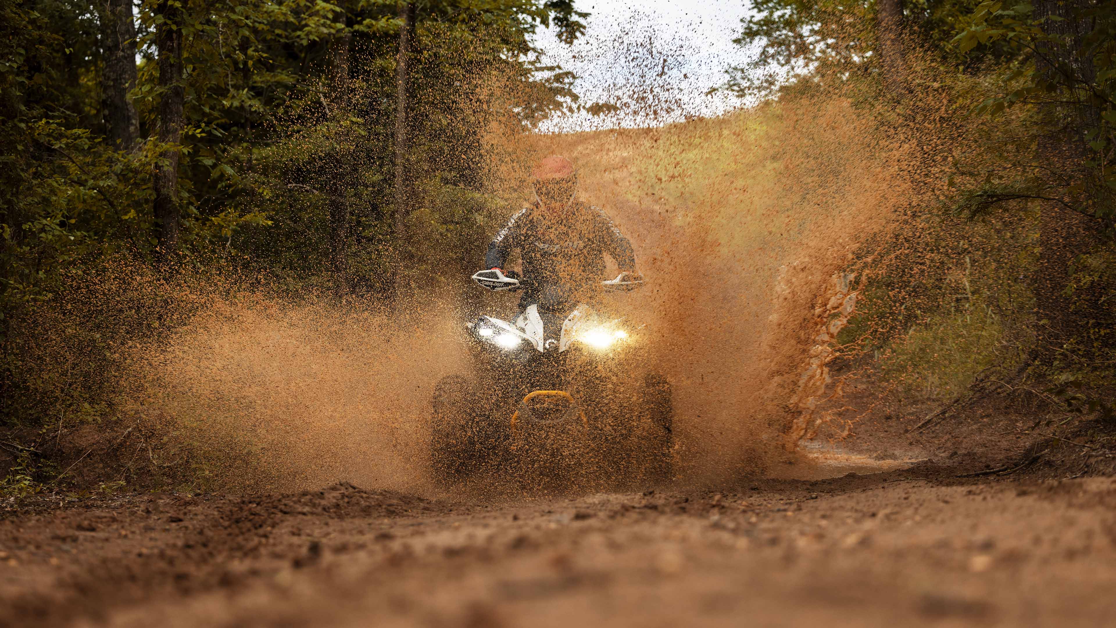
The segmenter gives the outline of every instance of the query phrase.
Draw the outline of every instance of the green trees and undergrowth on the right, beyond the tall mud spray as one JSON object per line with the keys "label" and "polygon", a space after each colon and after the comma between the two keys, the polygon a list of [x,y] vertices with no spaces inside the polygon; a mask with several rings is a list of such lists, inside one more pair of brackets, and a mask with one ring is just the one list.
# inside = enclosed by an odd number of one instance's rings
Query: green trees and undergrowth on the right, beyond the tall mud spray
{"label": "green trees and undergrowth on the right, beyond the tall mud spray", "polygon": [[[864,253],[872,278],[841,334],[847,354],[869,353],[886,380],[931,397],[961,394],[994,367],[1069,377],[1094,394],[1078,407],[1106,407],[1097,396],[1110,392],[1116,364],[1116,6],[899,0],[892,54],[904,57],[894,67],[905,94],[878,67],[876,1],[754,7],[738,42],[759,56],[730,75],[731,89],[829,89],[920,144],[924,164],[947,164],[937,202],[910,208],[898,241]],[[1071,251],[1051,227],[1067,212],[1090,218],[1072,222]],[[959,301],[955,278],[970,265],[981,278]]]}

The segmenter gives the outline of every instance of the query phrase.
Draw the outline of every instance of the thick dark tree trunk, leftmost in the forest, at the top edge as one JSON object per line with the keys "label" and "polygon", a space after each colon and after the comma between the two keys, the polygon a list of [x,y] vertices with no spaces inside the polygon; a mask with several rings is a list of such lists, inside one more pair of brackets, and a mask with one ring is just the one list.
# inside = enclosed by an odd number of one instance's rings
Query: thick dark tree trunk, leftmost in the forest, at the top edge
{"label": "thick dark tree trunk, leftmost in the forest, at the top edge", "polygon": [[100,0],[105,126],[109,141],[131,151],[140,142],[140,116],[128,92],[136,86],[136,26],[132,0]]}

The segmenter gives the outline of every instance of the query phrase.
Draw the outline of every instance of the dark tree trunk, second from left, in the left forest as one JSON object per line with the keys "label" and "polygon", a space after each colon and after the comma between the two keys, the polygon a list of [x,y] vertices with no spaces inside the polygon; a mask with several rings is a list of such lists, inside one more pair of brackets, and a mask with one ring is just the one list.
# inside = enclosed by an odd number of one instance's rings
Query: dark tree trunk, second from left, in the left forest
{"label": "dark tree trunk, second from left, in the left forest", "polygon": [[156,6],[163,22],[155,28],[158,49],[158,86],[163,97],[158,104],[158,141],[171,144],[155,162],[152,187],[155,191],[155,223],[158,226],[160,256],[169,258],[179,248],[179,142],[182,141],[182,9],[167,0]]}

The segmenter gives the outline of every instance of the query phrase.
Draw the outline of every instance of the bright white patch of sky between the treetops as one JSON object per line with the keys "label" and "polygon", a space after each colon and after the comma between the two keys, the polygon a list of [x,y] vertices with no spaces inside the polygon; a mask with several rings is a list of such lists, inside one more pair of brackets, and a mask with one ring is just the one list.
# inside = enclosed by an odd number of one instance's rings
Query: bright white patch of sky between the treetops
{"label": "bright white patch of sky between the treetops", "polygon": [[749,15],[747,0],[580,0],[575,6],[591,13],[584,20],[585,35],[566,46],[552,29],[540,30],[536,42],[543,61],[578,76],[581,105],[610,103],[620,111],[596,117],[564,114],[540,131],[654,126],[742,105],[731,94],[706,92],[725,82],[725,69],[754,55],[732,42]]}

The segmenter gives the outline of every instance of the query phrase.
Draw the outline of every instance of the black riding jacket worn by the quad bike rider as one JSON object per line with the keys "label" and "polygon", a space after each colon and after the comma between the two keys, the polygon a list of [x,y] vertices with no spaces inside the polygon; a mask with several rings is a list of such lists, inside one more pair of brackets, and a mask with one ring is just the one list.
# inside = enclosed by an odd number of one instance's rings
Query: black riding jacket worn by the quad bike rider
{"label": "black riding jacket worn by the quad bike rider", "polygon": [[531,293],[532,287],[551,283],[577,289],[600,282],[606,278],[606,253],[620,270],[635,270],[632,242],[608,215],[579,200],[561,216],[550,216],[538,202],[516,212],[489,244],[485,268],[503,268],[514,248],[522,254],[523,279]]}

